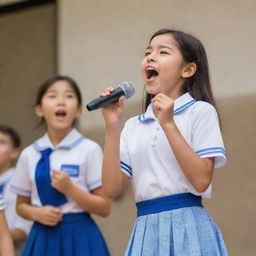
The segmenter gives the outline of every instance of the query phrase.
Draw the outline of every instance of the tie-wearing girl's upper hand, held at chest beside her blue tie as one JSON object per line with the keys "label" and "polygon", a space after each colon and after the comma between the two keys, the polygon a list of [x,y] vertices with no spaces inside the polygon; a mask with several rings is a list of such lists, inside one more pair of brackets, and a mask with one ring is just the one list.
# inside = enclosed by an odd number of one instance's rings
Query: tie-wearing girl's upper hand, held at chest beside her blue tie
{"label": "tie-wearing girl's upper hand, held at chest beside her blue tie", "polygon": [[73,183],[67,173],[52,169],[51,185],[63,194],[67,194],[71,189]]}

